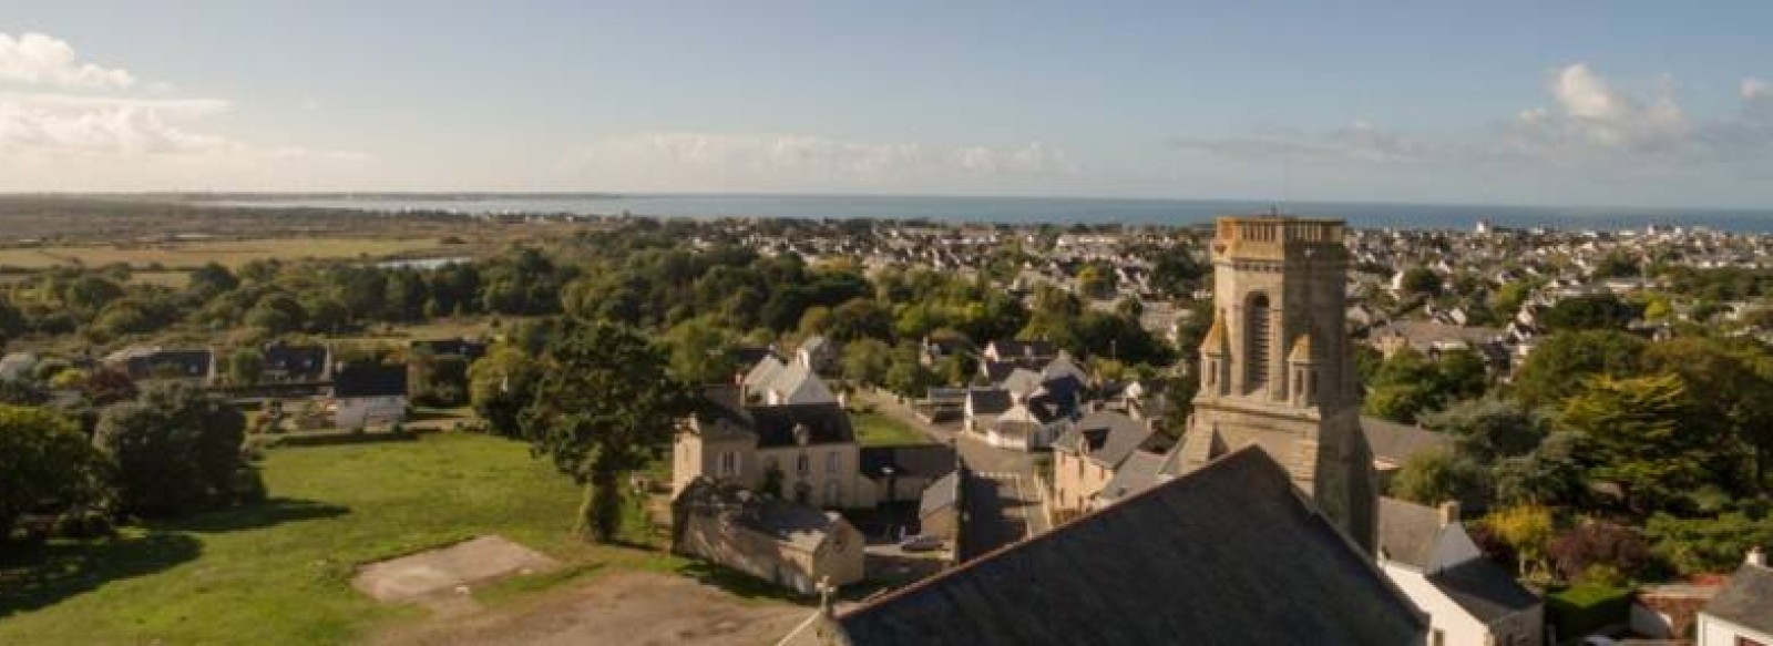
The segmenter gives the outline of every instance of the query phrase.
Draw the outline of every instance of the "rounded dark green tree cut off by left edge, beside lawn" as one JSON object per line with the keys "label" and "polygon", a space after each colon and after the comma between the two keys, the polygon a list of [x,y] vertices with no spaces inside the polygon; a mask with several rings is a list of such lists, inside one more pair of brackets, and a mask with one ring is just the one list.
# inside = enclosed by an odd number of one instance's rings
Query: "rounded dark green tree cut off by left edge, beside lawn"
{"label": "rounded dark green tree cut off by left edge, beside lawn", "polygon": [[99,502],[108,469],[73,421],[46,408],[0,405],[0,541],[43,500]]}

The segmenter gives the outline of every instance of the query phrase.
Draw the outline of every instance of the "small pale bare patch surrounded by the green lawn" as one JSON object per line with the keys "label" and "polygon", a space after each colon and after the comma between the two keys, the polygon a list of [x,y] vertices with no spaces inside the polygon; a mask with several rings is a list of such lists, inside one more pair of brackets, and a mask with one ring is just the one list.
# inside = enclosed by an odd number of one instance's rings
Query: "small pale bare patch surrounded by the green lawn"
{"label": "small pale bare patch surrounded by the green lawn", "polygon": [[379,602],[410,602],[457,595],[457,587],[514,573],[555,568],[541,552],[498,536],[480,536],[445,548],[426,550],[358,568],[351,586]]}

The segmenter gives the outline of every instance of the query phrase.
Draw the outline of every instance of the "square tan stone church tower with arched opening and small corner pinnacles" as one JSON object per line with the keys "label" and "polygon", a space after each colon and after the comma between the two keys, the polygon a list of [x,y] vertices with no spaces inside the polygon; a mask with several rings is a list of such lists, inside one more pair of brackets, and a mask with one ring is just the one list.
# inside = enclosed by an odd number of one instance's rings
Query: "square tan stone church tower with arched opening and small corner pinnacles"
{"label": "square tan stone church tower with arched opening and small corner pinnacles", "polygon": [[1372,552],[1378,488],[1344,319],[1342,231],[1340,220],[1218,218],[1200,392],[1170,467],[1261,445]]}

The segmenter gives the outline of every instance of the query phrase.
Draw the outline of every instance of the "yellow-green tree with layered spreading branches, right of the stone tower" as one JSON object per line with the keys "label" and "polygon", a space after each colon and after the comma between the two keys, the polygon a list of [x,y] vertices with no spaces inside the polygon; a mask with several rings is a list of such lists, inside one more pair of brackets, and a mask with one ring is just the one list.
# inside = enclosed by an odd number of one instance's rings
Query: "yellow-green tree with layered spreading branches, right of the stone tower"
{"label": "yellow-green tree with layered spreading branches, right of the stone tower", "polygon": [[1626,506],[1649,513],[1706,483],[1714,438],[1688,424],[1693,405],[1675,374],[1589,380],[1564,403],[1562,429],[1590,447],[1589,477],[1617,483]]}

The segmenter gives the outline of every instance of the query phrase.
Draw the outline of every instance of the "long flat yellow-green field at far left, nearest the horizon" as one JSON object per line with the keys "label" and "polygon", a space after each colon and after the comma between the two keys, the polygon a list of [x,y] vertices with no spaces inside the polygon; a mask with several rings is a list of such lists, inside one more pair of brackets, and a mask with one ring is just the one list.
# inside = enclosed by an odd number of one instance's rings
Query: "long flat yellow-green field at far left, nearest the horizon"
{"label": "long flat yellow-green field at far left, nearest the horizon", "polygon": [[197,268],[215,261],[241,266],[264,259],[349,259],[390,256],[450,256],[463,247],[440,245],[436,238],[257,238],[167,243],[113,243],[0,248],[0,268],[46,270],[55,266]]}

